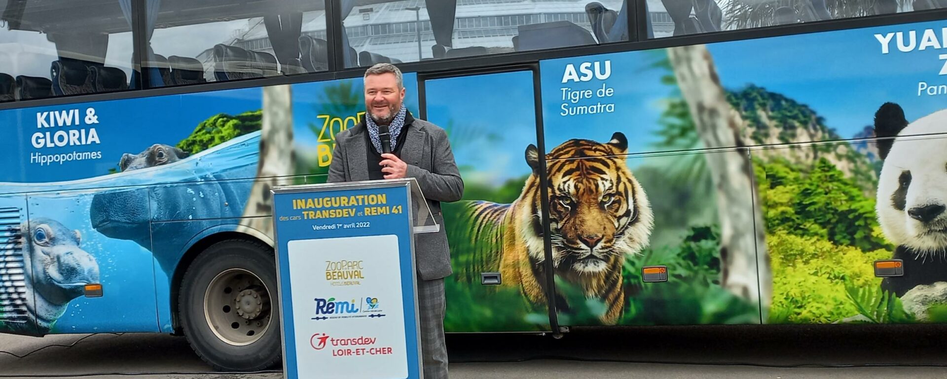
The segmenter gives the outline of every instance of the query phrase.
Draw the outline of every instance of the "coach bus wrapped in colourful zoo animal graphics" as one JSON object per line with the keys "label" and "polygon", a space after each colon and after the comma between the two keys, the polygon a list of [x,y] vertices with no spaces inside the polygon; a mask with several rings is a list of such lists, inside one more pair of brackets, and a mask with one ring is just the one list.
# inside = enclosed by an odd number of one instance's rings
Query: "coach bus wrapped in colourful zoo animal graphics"
{"label": "coach bus wrapped in colourful zoo animal graphics", "polygon": [[463,177],[447,333],[943,322],[942,5],[0,0],[0,332],[279,363],[270,189],[375,63]]}

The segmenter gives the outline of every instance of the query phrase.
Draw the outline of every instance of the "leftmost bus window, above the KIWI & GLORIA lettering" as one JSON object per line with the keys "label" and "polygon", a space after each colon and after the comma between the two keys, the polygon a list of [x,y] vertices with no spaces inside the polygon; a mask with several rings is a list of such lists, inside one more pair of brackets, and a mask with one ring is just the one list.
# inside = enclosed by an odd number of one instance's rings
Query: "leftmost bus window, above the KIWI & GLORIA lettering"
{"label": "leftmost bus window, above the KIWI & GLORIA lettering", "polygon": [[0,101],[134,87],[131,14],[129,0],[0,0]]}

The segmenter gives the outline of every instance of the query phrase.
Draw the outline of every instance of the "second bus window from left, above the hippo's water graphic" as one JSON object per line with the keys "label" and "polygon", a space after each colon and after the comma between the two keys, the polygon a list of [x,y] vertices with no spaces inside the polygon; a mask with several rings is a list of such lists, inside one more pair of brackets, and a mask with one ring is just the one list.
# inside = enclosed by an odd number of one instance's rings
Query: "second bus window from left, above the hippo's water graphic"
{"label": "second bus window from left, above the hippo's water graphic", "polygon": [[[152,87],[329,69],[323,0],[149,0]],[[150,29],[149,29],[150,28]]]}

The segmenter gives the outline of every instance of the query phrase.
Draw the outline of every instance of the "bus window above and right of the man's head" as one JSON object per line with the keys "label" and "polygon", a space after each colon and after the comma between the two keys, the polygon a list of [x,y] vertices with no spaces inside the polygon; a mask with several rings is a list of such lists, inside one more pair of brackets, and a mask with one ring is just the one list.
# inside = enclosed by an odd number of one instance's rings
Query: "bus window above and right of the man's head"
{"label": "bus window above and right of the man's head", "polygon": [[341,0],[343,57],[356,67],[627,41],[627,11],[623,0]]}

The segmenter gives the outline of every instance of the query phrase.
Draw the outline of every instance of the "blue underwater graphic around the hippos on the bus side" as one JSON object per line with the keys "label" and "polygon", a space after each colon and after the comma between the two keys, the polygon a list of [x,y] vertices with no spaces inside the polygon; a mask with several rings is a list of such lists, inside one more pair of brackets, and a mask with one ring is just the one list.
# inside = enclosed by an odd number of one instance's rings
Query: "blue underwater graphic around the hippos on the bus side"
{"label": "blue underwater graphic around the hippos on the bus side", "polygon": [[160,221],[240,217],[257,174],[259,135],[142,170],[67,182],[0,183],[6,193],[0,207],[28,209],[30,219],[45,217],[78,231],[80,248],[98,263],[104,296],[73,299],[51,332],[160,332],[159,313],[170,312],[161,295],[168,294],[168,273],[180,257],[152,253],[152,238],[162,248],[180,249],[219,223]]}

